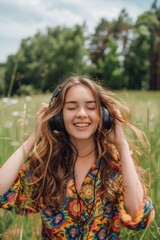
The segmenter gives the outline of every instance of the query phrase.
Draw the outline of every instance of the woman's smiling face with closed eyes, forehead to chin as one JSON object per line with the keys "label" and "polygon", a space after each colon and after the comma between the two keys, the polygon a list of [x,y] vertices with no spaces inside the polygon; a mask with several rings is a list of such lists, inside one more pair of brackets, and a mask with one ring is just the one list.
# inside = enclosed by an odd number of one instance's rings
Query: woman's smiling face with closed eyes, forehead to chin
{"label": "woman's smiling face with closed eyes, forehead to chin", "polygon": [[99,123],[99,114],[93,93],[87,86],[78,84],[67,91],[63,118],[72,142],[93,140]]}

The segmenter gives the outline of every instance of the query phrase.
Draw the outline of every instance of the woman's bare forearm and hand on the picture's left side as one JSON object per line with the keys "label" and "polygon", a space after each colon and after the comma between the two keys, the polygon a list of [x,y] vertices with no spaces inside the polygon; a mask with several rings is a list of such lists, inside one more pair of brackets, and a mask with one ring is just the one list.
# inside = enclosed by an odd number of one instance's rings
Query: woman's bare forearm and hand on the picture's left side
{"label": "woman's bare forearm and hand on the picture's left side", "polygon": [[0,195],[4,194],[13,184],[24,161],[33,150],[35,142],[40,136],[40,123],[48,105],[42,104],[36,114],[35,130],[31,136],[10,156],[0,168]]}

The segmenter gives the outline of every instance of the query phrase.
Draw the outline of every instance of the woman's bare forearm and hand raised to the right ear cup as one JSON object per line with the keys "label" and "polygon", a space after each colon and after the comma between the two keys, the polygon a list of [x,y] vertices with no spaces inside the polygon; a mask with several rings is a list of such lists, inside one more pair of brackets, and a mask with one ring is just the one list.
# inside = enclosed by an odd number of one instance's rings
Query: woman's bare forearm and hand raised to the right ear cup
{"label": "woman's bare forearm and hand raised to the right ear cup", "polygon": [[122,180],[124,187],[124,204],[132,218],[143,204],[143,188],[136,172],[129,146],[123,132],[122,125],[115,121],[115,128],[108,134],[109,141],[113,143],[119,153],[122,164]]}

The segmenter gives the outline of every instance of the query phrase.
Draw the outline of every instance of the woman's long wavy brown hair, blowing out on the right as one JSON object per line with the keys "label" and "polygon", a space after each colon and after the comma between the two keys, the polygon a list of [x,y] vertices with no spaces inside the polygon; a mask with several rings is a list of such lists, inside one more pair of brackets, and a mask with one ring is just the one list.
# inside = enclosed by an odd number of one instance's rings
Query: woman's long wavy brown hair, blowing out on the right
{"label": "woman's long wavy brown hair, blowing out on the right", "polygon": [[[63,109],[67,91],[77,84],[87,86],[95,97],[99,112],[100,123],[95,132],[96,157],[103,158],[106,163],[102,169],[110,168],[112,162],[117,161],[117,151],[107,140],[107,133],[102,130],[102,116],[100,107],[106,106],[113,119],[118,119],[125,129],[131,129],[143,146],[147,141],[143,132],[130,122],[130,111],[113,92],[106,89],[98,81],[86,76],[71,76],[60,84],[61,93],[46,110],[41,123],[41,138],[36,143],[29,157],[30,171],[33,182],[31,184],[32,198],[39,201],[42,197],[46,205],[59,208],[65,196],[65,184],[74,172],[76,148],[71,144],[66,132],[52,131],[49,119]],[[117,111],[118,110],[118,111]],[[120,113],[120,114],[119,114]],[[129,140],[129,139],[128,139]],[[130,148],[137,148],[130,142]],[[74,151],[74,152],[73,152]],[[106,171],[102,173],[105,183]]]}

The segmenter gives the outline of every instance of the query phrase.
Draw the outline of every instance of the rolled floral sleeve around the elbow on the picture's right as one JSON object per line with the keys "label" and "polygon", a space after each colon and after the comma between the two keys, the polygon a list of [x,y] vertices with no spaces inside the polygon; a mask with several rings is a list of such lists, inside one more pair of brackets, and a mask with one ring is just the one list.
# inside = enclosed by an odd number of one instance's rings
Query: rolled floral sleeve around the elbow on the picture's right
{"label": "rolled floral sleeve around the elbow on the picture's right", "polygon": [[155,211],[151,199],[147,195],[145,195],[143,204],[134,219],[131,218],[125,209],[123,194],[119,196],[118,205],[121,225],[126,228],[135,230],[145,229],[154,220]]}

